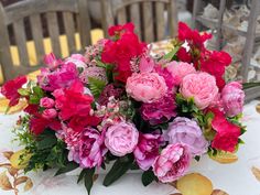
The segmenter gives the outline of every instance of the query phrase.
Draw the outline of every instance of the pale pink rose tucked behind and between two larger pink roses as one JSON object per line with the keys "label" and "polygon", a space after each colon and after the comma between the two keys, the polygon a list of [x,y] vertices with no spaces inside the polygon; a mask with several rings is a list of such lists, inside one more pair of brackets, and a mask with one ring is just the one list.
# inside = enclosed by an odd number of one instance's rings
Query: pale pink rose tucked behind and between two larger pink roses
{"label": "pale pink rose tucked behind and between two larger pink roses", "polygon": [[186,75],[196,73],[192,64],[175,61],[166,64],[166,69],[172,74],[175,85],[180,85]]}

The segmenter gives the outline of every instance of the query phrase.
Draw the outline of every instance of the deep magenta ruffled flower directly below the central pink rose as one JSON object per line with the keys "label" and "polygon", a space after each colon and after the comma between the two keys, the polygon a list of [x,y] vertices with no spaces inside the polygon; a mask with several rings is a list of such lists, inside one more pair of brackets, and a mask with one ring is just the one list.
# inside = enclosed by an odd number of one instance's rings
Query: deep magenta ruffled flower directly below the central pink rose
{"label": "deep magenta ruffled flower directly below the central pink rose", "polygon": [[151,124],[158,124],[175,117],[175,97],[172,93],[169,93],[154,102],[143,104],[141,107],[141,115],[142,118],[144,120],[149,120]]}

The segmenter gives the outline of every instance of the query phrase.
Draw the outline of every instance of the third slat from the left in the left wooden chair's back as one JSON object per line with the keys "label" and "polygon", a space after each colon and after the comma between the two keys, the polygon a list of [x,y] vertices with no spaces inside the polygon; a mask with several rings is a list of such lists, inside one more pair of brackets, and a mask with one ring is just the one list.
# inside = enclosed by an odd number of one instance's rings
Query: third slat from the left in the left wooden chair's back
{"label": "third slat from the left in the left wooden chair's back", "polygon": [[47,18],[47,30],[52,42],[53,53],[57,56],[61,56],[61,44],[59,44],[59,32],[58,32],[58,23],[57,23],[57,14],[56,12],[46,13]]}

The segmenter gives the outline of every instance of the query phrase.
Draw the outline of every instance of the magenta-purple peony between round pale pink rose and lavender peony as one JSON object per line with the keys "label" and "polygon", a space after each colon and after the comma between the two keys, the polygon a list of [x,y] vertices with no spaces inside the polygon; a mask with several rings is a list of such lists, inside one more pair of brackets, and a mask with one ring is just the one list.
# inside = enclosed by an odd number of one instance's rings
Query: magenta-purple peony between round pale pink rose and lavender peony
{"label": "magenta-purple peony between round pale pink rose and lavender peony", "polygon": [[138,165],[148,171],[156,156],[159,155],[159,148],[162,143],[162,137],[160,134],[139,134],[139,143],[133,151]]}

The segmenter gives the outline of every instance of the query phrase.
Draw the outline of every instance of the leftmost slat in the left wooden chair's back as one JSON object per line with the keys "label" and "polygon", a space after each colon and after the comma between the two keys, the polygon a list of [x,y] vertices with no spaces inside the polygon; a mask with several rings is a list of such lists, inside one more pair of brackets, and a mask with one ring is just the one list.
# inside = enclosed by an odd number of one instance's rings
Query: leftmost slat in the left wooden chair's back
{"label": "leftmost slat in the left wooden chair's back", "polygon": [[15,43],[17,45],[19,45],[18,52],[19,52],[20,65],[30,66],[23,19],[13,23],[13,31],[14,31],[14,36],[15,36]]}

